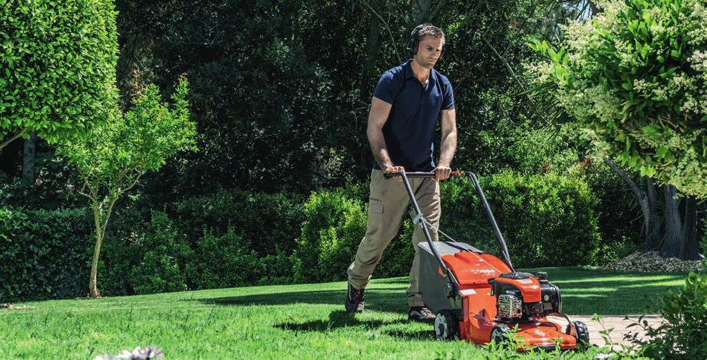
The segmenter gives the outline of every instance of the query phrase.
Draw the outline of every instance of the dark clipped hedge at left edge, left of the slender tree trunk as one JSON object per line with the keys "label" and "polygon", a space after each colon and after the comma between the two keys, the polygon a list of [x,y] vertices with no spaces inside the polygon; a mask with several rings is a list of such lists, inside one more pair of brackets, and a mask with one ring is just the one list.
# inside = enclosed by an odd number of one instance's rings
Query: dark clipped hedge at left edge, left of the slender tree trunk
{"label": "dark clipped hedge at left edge, left of the slender tree trunk", "polygon": [[0,302],[86,295],[87,209],[0,209]]}

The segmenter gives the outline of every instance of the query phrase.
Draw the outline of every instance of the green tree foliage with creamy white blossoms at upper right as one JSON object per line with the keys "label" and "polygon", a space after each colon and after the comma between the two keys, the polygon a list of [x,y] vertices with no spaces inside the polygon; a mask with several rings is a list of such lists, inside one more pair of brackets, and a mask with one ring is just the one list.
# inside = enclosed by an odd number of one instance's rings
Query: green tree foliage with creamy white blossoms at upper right
{"label": "green tree foliage with creamy white blossoms at upper right", "polygon": [[534,49],[543,79],[602,152],[707,196],[707,11],[699,0],[602,1],[566,42]]}

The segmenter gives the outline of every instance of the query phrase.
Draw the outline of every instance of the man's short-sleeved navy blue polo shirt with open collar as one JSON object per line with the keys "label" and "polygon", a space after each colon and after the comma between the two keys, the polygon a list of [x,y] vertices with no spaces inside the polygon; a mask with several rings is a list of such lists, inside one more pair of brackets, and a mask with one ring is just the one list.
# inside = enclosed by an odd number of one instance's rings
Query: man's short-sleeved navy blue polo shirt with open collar
{"label": "man's short-sleeved navy blue polo shirt with open collar", "polygon": [[[435,127],[441,110],[454,108],[452,84],[432,69],[426,86],[418,81],[411,60],[385,71],[373,96],[392,104],[383,125],[390,160],[406,171],[432,171]],[[380,169],[373,161],[373,168]]]}

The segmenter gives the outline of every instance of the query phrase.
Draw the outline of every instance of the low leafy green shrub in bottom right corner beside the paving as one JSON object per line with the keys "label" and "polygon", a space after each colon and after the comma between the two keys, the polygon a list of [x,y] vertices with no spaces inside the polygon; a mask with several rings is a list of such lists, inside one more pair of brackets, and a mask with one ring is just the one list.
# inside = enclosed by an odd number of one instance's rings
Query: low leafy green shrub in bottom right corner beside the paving
{"label": "low leafy green shrub in bottom right corner beside the paving", "polygon": [[707,274],[691,272],[682,289],[668,290],[658,301],[664,323],[652,327],[638,320],[646,337],[631,342],[651,359],[699,359],[707,354]]}

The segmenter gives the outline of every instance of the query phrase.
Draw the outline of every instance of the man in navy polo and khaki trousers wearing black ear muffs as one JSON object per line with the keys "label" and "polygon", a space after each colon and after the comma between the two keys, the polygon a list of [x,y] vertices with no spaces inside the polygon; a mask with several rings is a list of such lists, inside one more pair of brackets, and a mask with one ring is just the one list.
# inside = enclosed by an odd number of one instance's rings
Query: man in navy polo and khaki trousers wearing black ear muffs
{"label": "man in navy polo and khaki trousers wearing black ear muffs", "polygon": [[[412,59],[380,77],[368,114],[366,134],[375,163],[370,176],[370,198],[366,236],[361,240],[356,259],[349,267],[349,289],[344,305],[351,312],[363,311],[364,288],[370,280],[383,250],[395,237],[409,211],[410,200],[398,181],[386,180],[383,173],[434,171],[435,178],[411,178],[411,187],[433,240],[440,219],[439,180],[449,178],[452,157],[457,147],[454,96],[448,79],[434,70],[443,53],[444,33],[429,24],[419,25],[411,33],[409,50]],[[442,141],[440,158],[435,166],[433,148],[436,124],[440,120]],[[432,323],[434,314],[425,306],[418,288],[419,248],[425,241],[420,226],[412,236],[415,257],[407,289],[409,320]]]}

